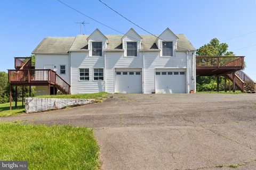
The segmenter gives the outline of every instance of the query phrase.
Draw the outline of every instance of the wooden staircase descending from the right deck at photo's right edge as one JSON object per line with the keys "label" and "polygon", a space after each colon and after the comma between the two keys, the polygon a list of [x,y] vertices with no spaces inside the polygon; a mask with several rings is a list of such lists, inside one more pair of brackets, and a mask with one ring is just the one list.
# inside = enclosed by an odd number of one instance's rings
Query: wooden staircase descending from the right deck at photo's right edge
{"label": "wooden staircase descending from the right deck at photo's right edge", "polygon": [[[227,74],[227,77],[233,81],[233,74]],[[235,72],[235,85],[242,92],[255,93],[255,82],[242,70]]]}

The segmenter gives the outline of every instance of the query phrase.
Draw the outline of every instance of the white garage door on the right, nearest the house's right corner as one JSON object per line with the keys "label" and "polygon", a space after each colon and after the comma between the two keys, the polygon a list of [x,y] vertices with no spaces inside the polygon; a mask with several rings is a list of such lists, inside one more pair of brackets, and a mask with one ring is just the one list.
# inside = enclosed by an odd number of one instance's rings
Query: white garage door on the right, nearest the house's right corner
{"label": "white garage door on the right, nearest the house's right corner", "polygon": [[186,93],[186,70],[156,70],[156,93]]}

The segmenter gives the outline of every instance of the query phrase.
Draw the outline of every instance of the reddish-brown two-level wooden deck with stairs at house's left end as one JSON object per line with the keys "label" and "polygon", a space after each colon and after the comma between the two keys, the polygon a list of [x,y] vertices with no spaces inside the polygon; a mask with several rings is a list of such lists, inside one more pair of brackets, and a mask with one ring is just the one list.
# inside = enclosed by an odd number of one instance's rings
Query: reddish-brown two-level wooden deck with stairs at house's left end
{"label": "reddish-brown two-level wooden deck with stairs at house's left end", "polygon": [[62,94],[70,94],[70,85],[55,71],[35,69],[31,57],[15,57],[15,69],[8,70],[9,83],[14,86],[50,86],[56,87]]}

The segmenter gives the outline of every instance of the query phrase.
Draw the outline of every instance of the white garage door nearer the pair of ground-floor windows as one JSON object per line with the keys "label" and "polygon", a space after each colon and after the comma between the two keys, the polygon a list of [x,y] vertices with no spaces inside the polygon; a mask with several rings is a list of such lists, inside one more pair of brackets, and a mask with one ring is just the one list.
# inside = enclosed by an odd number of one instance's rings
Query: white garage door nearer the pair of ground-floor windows
{"label": "white garage door nearer the pair of ground-floor windows", "polygon": [[116,71],[115,92],[121,92],[125,94],[142,93],[141,74],[141,71]]}

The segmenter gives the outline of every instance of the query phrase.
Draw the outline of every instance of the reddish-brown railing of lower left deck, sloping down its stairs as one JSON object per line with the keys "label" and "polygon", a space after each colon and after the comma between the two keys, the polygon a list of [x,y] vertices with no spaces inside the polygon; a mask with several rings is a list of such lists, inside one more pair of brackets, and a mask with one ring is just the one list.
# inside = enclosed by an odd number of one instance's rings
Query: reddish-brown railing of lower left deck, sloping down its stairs
{"label": "reddish-brown railing of lower left deck, sloping down its stairs", "polygon": [[62,92],[70,92],[70,85],[50,69],[8,70],[11,84],[53,84]]}

